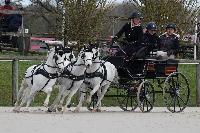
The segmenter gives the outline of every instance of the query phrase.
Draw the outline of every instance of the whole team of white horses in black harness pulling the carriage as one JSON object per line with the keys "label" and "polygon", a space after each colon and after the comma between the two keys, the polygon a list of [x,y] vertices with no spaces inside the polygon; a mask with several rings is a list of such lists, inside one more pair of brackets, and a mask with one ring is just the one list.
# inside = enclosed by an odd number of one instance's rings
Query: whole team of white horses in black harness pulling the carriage
{"label": "whole team of white horses in black harness pulling the carriage", "polygon": [[[97,92],[98,101],[92,111],[101,111],[101,100],[111,82],[117,81],[117,77],[115,66],[100,59],[97,45],[85,45],[77,58],[71,48],[57,46],[48,52],[45,63],[33,65],[27,69],[13,111],[20,112],[20,108],[25,104],[28,111],[38,91],[47,93],[44,106],[48,107],[49,97],[55,84],[59,86],[59,93],[48,108],[49,112],[56,110],[65,112],[72,97],[79,89],[80,92],[91,89],[86,99],[87,103],[91,102],[92,96]],[[81,93],[75,112],[80,111],[85,94]],[[66,105],[64,106],[65,99]]]}

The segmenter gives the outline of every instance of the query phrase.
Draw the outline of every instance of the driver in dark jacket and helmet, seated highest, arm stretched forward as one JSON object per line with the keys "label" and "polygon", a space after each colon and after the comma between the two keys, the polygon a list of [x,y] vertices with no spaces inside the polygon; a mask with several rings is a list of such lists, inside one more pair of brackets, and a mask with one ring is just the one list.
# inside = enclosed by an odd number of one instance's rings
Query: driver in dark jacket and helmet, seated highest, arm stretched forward
{"label": "driver in dark jacket and helmet, seated highest, arm stretched forward", "polygon": [[[140,25],[142,18],[140,12],[133,12],[133,14],[128,18],[130,22],[126,23],[112,39],[112,42],[115,42],[123,34],[125,35],[123,51],[128,57],[136,55],[136,52],[142,47],[141,40],[143,37],[143,28]],[[119,51],[116,55],[124,55],[124,53]]]}

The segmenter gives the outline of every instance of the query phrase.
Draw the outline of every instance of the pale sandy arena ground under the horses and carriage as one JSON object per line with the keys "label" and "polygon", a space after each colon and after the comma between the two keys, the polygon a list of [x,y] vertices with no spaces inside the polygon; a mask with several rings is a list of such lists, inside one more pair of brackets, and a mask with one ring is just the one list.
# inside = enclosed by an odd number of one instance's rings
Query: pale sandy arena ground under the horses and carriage
{"label": "pale sandy arena ground under the horses and carriage", "polygon": [[[91,113],[68,111],[46,113],[46,108],[13,113],[12,107],[0,107],[0,133],[199,133],[200,108],[186,108],[170,113],[154,108],[150,113],[124,112],[118,107]],[[73,109],[73,108],[72,108]],[[22,109],[23,110],[23,109]]]}

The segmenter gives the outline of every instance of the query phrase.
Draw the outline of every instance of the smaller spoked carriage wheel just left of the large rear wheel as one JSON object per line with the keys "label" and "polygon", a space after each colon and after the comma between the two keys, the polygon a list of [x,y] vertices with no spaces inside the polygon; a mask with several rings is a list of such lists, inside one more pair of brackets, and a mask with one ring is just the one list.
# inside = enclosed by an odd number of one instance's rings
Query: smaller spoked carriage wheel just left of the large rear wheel
{"label": "smaller spoked carriage wheel just left of the large rear wheel", "polygon": [[137,100],[142,112],[150,112],[155,102],[155,91],[153,85],[145,80],[138,87]]}

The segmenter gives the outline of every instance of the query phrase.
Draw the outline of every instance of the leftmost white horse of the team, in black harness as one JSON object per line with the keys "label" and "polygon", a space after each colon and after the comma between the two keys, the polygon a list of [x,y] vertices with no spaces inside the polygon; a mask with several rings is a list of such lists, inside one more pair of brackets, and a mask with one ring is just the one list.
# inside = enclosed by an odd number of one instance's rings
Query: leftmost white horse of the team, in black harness
{"label": "leftmost white horse of the team, in black harness", "polygon": [[44,101],[44,106],[47,106],[52,86],[55,84],[59,73],[71,63],[72,59],[72,49],[57,46],[49,51],[45,63],[29,67],[25,73],[25,78],[22,80],[13,111],[19,112],[24,104],[29,107],[36,92],[41,90],[47,93]]}

